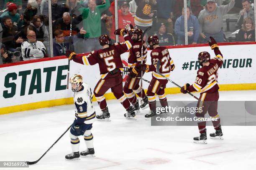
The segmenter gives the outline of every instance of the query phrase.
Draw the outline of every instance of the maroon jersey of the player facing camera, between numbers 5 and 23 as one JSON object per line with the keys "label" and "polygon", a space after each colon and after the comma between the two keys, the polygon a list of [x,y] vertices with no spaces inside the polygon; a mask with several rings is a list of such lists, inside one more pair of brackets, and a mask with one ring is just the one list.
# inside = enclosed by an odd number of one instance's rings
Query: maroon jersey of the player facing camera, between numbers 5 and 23
{"label": "maroon jersey of the player facing camera, between numbers 5 and 23", "polygon": [[[143,41],[143,63],[146,62],[147,59],[147,46],[145,41]],[[128,68],[135,67],[137,62],[141,62],[141,41],[135,42],[133,47],[131,47],[128,57]]]}

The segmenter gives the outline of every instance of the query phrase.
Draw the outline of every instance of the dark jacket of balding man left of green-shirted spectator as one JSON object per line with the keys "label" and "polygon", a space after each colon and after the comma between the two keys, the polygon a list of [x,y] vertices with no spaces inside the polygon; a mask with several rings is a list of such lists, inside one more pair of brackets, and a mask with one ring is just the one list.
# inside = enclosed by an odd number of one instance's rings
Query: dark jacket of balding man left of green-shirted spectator
{"label": "dark jacket of balding man left of green-shirted spectator", "polygon": [[[64,33],[64,36],[69,36],[69,32],[70,32],[70,24],[66,25],[63,22],[63,18],[59,18],[58,20],[56,20],[52,26],[52,30],[53,32],[55,30],[62,30]],[[80,32],[80,30],[77,28],[76,25],[72,24],[72,35],[77,35],[77,33]]]}

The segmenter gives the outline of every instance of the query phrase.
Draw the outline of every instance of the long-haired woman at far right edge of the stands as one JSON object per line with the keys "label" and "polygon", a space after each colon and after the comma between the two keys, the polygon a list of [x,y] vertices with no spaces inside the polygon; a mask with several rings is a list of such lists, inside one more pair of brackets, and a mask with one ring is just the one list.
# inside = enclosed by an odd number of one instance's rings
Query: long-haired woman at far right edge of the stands
{"label": "long-haired woman at far right edge of the stands", "polygon": [[255,41],[254,23],[250,17],[243,20],[242,28],[236,35],[236,41]]}

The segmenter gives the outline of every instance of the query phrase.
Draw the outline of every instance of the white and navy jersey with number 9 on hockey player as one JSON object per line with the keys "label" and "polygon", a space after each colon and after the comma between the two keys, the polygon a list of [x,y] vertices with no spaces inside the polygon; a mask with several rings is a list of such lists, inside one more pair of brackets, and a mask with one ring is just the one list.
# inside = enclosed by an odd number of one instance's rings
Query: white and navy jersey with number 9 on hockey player
{"label": "white and navy jersey with number 9 on hockey player", "polygon": [[94,122],[96,113],[92,105],[92,89],[86,83],[82,84],[81,90],[74,93],[75,119],[77,124],[91,124]]}

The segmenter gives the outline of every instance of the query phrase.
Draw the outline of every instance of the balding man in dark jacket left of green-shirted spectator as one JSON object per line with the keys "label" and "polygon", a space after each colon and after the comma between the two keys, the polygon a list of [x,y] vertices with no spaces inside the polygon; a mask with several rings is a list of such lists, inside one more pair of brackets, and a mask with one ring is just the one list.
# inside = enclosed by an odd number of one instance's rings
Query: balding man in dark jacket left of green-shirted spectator
{"label": "balding man in dark jacket left of green-shirted spectator", "polygon": [[[68,12],[63,13],[62,18],[59,18],[56,20],[56,22],[53,25],[53,32],[55,30],[62,30],[65,37],[68,37],[70,34],[70,22],[71,17]],[[79,32],[79,29],[76,25],[72,24],[72,36],[77,35]]]}

